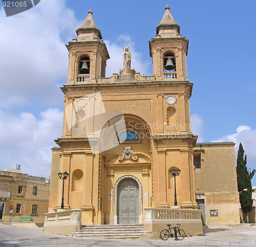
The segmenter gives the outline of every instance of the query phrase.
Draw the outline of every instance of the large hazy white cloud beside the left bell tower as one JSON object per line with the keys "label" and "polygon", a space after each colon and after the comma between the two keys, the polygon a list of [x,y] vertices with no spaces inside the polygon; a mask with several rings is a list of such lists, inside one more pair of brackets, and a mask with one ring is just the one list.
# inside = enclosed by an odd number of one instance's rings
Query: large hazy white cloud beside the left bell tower
{"label": "large hazy white cloud beside the left bell tower", "polygon": [[[3,8],[0,15],[5,16]],[[44,0],[26,12],[1,18],[1,107],[46,98],[61,102],[56,99],[57,81],[66,83],[68,67],[63,39],[71,40],[79,25],[61,0]]]}

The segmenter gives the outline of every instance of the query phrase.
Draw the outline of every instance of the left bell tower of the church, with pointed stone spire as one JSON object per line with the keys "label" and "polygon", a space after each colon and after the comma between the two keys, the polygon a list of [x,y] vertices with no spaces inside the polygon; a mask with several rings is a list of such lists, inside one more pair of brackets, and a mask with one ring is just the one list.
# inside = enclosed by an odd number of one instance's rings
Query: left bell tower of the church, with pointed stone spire
{"label": "left bell tower of the church, with pointed stone spire", "polygon": [[76,30],[77,38],[67,45],[69,70],[67,84],[96,82],[105,77],[106,60],[110,58],[100,30],[96,27],[89,10],[88,16]]}

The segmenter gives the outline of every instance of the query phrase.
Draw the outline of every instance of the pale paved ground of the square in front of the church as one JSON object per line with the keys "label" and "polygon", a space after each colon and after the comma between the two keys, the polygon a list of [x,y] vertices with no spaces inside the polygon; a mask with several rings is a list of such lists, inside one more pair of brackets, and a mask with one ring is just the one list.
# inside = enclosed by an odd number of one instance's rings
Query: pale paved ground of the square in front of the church
{"label": "pale paved ground of the square in front of the church", "polygon": [[42,228],[25,228],[0,223],[0,246],[251,246],[256,245],[256,226],[243,227],[204,227],[204,235],[186,237],[182,241],[163,240],[120,240],[120,239],[83,239],[55,234],[46,234]]}

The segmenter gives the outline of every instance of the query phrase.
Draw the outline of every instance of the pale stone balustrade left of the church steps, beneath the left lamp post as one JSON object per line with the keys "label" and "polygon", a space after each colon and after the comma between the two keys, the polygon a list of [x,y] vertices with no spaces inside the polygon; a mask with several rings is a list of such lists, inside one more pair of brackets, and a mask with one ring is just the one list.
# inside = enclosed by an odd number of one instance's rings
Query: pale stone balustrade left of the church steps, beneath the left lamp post
{"label": "pale stone balustrade left of the church steps, beneath the left lamp post", "polygon": [[70,235],[81,229],[81,209],[59,210],[45,214],[44,232]]}

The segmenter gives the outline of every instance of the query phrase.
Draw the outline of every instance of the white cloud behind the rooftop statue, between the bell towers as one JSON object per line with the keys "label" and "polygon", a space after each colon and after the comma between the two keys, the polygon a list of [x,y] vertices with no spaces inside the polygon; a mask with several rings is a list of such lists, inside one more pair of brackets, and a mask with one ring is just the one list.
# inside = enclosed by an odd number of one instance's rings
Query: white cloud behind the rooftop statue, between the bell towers
{"label": "white cloud behind the rooftop statue, between the bell towers", "polygon": [[135,44],[129,35],[120,35],[116,43],[110,40],[104,40],[106,48],[109,51],[110,59],[106,62],[106,77],[111,77],[114,73],[119,74],[119,70],[123,69],[123,46],[129,46],[132,55],[131,69],[135,69],[141,75],[144,72],[145,76],[149,74],[150,61],[143,61],[142,54],[135,49]]}

